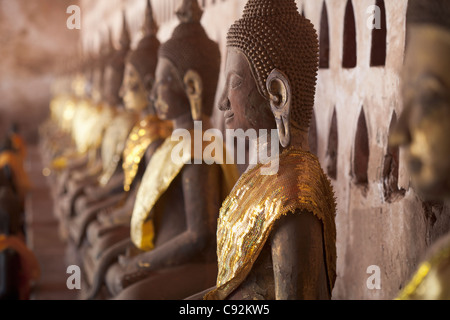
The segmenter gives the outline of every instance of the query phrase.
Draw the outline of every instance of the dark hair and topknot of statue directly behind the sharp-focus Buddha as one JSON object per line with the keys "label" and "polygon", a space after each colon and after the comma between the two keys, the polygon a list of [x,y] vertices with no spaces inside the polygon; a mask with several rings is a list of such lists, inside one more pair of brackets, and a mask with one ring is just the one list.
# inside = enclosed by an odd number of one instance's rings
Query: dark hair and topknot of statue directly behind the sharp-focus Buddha
{"label": "dark hair and topknot of statue directly behind the sharp-focus Buddha", "polygon": [[159,48],[178,70],[181,79],[189,70],[196,71],[203,81],[202,113],[211,116],[220,73],[220,50],[200,23],[203,11],[197,0],[183,0],[177,10],[180,24],[172,37]]}

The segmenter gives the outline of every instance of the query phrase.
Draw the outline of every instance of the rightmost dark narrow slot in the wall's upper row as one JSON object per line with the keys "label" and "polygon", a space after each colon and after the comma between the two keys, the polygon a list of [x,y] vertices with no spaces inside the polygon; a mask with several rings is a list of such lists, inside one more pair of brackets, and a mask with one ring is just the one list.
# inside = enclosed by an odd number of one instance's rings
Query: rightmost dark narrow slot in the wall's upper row
{"label": "rightmost dark narrow slot in the wall's upper row", "polygon": [[384,0],[375,3],[374,28],[372,30],[372,48],[370,52],[370,66],[379,67],[386,64],[386,8]]}

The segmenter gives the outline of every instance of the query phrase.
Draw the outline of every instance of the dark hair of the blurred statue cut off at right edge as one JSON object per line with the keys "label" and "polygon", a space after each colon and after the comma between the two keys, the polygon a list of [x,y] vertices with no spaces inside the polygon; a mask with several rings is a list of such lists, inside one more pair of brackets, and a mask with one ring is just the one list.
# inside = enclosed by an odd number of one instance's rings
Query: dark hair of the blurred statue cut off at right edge
{"label": "dark hair of the blurred statue cut off at right edge", "polygon": [[449,0],[410,0],[406,22],[411,24],[433,24],[450,29]]}

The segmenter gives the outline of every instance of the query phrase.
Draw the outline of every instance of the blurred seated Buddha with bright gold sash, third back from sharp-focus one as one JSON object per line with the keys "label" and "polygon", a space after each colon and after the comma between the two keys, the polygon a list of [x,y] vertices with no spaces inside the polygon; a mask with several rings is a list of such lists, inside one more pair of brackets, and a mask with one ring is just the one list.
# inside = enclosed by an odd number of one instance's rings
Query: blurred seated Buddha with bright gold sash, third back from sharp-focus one
{"label": "blurred seated Buddha with bright gold sash, third back from sharp-focus one", "polygon": [[[143,37],[137,48],[127,56],[125,76],[120,89],[125,108],[139,114],[139,120],[128,136],[122,156],[125,199],[123,205],[100,213],[87,228],[83,261],[86,273],[91,279],[101,261],[102,253],[120,240],[129,238],[131,213],[145,166],[172,131],[171,122],[160,120],[149,101],[160,46],[156,38],[157,30],[151,3],[147,0]],[[95,276],[104,275],[100,272]],[[95,283],[96,280],[91,282]]]}

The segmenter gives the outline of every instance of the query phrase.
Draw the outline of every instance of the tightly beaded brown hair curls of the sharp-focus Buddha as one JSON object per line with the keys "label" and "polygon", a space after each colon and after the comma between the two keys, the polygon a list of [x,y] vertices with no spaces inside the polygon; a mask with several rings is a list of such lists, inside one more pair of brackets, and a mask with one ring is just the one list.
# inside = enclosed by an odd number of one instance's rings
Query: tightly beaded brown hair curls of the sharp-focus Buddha
{"label": "tightly beaded brown hair curls of the sharp-focus Buddha", "polygon": [[291,125],[307,131],[314,107],[319,40],[295,0],[249,0],[243,16],[229,29],[227,46],[250,62],[259,92],[269,99],[266,80],[274,69],[291,84]]}

